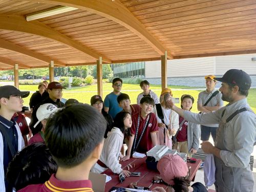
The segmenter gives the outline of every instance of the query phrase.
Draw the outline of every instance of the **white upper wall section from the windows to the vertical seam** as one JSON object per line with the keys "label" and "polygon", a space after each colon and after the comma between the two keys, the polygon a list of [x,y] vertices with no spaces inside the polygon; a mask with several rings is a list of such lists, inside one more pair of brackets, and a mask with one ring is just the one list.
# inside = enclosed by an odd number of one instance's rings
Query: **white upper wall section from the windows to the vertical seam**
{"label": "white upper wall section from the windows to the vertical seam", "polygon": [[[167,77],[195,77],[215,73],[215,57],[167,60]],[[161,77],[161,61],[145,62],[145,78]]]}

